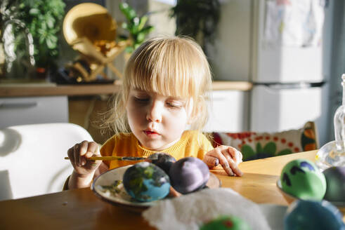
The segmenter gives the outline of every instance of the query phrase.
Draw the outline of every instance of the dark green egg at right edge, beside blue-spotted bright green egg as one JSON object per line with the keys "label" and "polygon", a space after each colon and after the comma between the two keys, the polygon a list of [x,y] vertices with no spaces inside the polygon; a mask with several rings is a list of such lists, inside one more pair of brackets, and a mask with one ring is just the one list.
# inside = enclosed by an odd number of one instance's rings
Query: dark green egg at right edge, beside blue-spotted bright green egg
{"label": "dark green egg at right edge, beside blue-spotted bright green egg", "polygon": [[327,168],[323,175],[327,183],[325,200],[345,202],[345,166]]}

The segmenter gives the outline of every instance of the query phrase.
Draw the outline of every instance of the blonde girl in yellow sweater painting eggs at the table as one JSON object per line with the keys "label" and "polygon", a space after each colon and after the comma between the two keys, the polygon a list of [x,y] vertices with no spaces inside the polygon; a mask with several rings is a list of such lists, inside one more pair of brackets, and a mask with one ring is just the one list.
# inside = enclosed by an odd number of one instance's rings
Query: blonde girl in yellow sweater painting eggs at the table
{"label": "blonde girl in yellow sweater painting eggs at the table", "polygon": [[[200,130],[207,121],[211,72],[207,58],[188,38],[155,38],[143,43],[127,62],[122,92],[108,123],[115,135],[100,151],[96,142],[75,144],[67,152],[74,171],[68,187],[89,187],[106,170],[135,162],[86,161],[91,156],[150,156],[165,152],[176,160],[202,159],[209,168],[221,163],[228,175],[242,175],[242,154],[233,147],[215,149]],[[189,127],[189,130],[186,130]]]}

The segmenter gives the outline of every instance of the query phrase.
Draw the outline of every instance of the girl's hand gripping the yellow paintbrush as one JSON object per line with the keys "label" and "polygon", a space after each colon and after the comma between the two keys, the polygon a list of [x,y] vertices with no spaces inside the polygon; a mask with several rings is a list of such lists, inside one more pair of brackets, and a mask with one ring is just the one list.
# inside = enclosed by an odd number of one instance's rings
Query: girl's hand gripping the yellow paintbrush
{"label": "girl's hand gripping the yellow paintbrush", "polygon": [[80,142],[74,144],[74,147],[68,149],[68,157],[73,165],[74,172],[79,177],[93,174],[99,167],[102,161],[87,161],[87,158],[91,156],[100,156],[98,144],[96,142]]}

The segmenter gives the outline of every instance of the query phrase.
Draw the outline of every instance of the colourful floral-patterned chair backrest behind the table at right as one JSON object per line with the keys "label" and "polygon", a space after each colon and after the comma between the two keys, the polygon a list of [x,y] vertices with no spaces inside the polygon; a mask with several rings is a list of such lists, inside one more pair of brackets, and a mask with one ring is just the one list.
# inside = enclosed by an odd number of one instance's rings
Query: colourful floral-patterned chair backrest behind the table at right
{"label": "colourful floral-patterned chair backrest behind the table at right", "polygon": [[240,150],[243,161],[318,149],[315,123],[279,133],[212,133],[214,147],[228,145]]}

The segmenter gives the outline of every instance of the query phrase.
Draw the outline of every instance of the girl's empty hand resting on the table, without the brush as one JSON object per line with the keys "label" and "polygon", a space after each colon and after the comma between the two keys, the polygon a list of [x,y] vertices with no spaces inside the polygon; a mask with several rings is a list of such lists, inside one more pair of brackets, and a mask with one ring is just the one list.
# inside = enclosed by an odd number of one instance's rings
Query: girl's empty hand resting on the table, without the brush
{"label": "girl's empty hand resting on the table, without the brush", "polygon": [[209,168],[213,168],[218,162],[221,163],[223,169],[229,176],[243,175],[243,172],[237,167],[237,165],[242,162],[242,154],[233,147],[226,145],[216,147],[204,155],[203,161]]}

